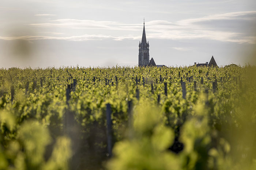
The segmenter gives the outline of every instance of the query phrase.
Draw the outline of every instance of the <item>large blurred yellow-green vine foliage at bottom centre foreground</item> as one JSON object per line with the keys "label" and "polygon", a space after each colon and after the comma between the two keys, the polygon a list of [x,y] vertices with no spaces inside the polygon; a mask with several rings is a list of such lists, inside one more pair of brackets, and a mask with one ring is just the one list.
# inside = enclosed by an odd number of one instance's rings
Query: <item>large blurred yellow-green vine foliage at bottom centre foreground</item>
{"label": "large blurred yellow-green vine foliage at bottom centre foreground", "polygon": [[138,106],[134,113],[133,138],[116,143],[115,158],[108,163],[109,169],[180,169],[179,159],[166,151],[173,143],[174,132],[163,124],[159,109],[152,108],[147,102]]}

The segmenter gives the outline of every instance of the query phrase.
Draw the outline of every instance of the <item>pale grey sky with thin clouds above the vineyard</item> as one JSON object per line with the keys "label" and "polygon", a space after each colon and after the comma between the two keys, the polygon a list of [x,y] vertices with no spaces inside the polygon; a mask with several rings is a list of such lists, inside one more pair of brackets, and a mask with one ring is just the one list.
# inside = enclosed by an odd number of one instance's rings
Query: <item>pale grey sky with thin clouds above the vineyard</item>
{"label": "pale grey sky with thin clouds above the vineyard", "polygon": [[255,0],[0,0],[0,68],[250,63]]}

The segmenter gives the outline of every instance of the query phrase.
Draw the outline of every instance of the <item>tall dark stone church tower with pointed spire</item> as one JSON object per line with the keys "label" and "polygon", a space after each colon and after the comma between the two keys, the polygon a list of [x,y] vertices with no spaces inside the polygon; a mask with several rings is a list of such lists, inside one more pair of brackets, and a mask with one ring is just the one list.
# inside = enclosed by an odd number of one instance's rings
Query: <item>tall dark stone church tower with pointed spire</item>
{"label": "tall dark stone church tower with pointed spire", "polygon": [[147,66],[149,63],[149,44],[146,39],[145,21],[143,25],[142,40],[139,43],[139,66]]}

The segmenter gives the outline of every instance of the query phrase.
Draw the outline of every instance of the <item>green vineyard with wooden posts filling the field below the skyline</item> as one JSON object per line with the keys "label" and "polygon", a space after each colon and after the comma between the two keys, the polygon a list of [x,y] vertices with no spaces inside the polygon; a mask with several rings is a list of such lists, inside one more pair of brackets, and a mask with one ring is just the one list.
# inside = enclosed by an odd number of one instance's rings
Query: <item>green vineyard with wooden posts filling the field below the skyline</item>
{"label": "green vineyard with wooden posts filling the field below the skyline", "polygon": [[256,67],[0,69],[0,169],[256,169]]}

